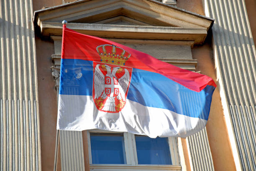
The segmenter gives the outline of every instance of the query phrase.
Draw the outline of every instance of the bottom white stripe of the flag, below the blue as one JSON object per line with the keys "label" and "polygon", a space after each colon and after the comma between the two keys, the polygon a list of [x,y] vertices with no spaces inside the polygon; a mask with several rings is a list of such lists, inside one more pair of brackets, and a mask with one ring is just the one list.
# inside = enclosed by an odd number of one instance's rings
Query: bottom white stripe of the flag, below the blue
{"label": "bottom white stripe of the flag, below the blue", "polygon": [[[133,110],[133,111],[131,111]],[[92,96],[59,95],[57,129],[104,129],[156,136],[186,137],[204,128],[206,120],[126,100],[120,113],[98,111]]]}

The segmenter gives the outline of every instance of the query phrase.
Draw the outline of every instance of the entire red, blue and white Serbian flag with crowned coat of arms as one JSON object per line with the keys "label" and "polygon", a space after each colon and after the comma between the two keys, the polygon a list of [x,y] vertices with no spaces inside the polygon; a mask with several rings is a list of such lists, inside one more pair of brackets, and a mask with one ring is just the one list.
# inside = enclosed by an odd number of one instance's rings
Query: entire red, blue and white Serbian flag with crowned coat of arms
{"label": "entire red, blue and white Serbian flag with crowned coat of arms", "polygon": [[212,78],[63,25],[57,129],[187,137],[205,127]]}

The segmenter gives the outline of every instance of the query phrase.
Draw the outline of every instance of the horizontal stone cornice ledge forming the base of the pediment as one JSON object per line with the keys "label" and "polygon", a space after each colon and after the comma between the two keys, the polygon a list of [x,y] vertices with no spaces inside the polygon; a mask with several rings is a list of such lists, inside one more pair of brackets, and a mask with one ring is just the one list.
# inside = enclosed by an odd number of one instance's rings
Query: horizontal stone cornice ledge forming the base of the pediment
{"label": "horizontal stone cornice ledge forming the base of the pediment", "polygon": [[[41,22],[41,35],[62,35],[62,24],[56,22]],[[202,44],[207,36],[203,28],[172,28],[156,26],[108,25],[68,23],[67,27],[82,34],[101,38],[125,38],[147,40],[185,40]]]}

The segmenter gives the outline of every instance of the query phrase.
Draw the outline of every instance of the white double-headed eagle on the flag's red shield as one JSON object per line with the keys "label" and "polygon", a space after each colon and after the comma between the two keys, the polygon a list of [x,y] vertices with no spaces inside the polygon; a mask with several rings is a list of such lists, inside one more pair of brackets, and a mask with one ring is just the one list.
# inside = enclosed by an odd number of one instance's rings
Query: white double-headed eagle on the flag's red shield
{"label": "white double-headed eagle on the flag's red shield", "polygon": [[[94,99],[97,99],[101,97],[103,100],[105,100],[105,104],[102,108],[102,111],[111,111],[115,112],[115,98],[117,98],[119,101],[126,101],[125,94],[128,91],[128,85],[130,83],[130,74],[127,69],[125,70],[124,75],[121,78],[116,77],[116,72],[120,68],[114,67],[112,72],[111,72],[111,67],[105,64],[105,68],[107,70],[107,74],[104,75],[100,68],[100,64],[97,64],[95,67],[95,72],[94,72],[94,89],[95,89],[95,97]],[[108,85],[109,89],[108,92],[105,92],[106,89],[106,78],[108,78],[108,81],[111,81],[110,85]],[[118,83],[114,85],[112,82],[116,81],[115,83]],[[114,89],[115,88],[115,89]],[[110,90],[110,91],[109,91]],[[113,91],[115,92],[115,96],[113,96]],[[117,111],[118,112],[118,111]]]}

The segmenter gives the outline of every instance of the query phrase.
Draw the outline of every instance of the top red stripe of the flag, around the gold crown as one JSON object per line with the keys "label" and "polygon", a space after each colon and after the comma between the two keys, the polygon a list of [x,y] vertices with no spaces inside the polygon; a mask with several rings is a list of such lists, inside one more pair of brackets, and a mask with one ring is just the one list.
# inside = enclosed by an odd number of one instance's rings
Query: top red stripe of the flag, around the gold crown
{"label": "top red stripe of the flag, around the gold crown", "polygon": [[125,62],[126,67],[138,68],[141,70],[159,73],[189,88],[190,90],[197,92],[200,92],[207,85],[216,87],[216,84],[212,78],[208,77],[207,75],[184,70],[169,63],[162,62],[161,60],[158,60],[151,55],[110,40],[77,33],[73,30],[70,30],[69,28],[66,28],[66,25],[63,25],[61,58],[101,62],[100,55],[97,53],[96,48],[99,45],[105,44],[115,45],[117,47],[123,48],[126,52],[131,54],[131,57]]}

